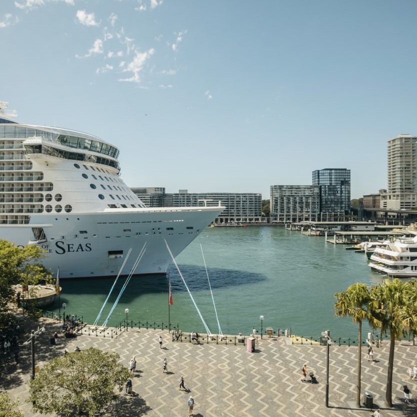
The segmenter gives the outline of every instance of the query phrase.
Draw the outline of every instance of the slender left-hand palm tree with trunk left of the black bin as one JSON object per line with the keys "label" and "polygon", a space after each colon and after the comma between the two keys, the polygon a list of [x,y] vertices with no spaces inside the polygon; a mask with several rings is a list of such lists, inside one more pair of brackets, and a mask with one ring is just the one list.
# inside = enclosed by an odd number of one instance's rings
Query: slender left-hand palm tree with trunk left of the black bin
{"label": "slender left-hand palm tree with trunk left of the black bin", "polygon": [[354,323],[358,323],[358,376],[356,406],[361,407],[361,372],[362,372],[362,322],[370,321],[369,303],[371,294],[365,284],[356,283],[341,293],[336,293],[338,301],[335,303],[336,316],[350,316]]}

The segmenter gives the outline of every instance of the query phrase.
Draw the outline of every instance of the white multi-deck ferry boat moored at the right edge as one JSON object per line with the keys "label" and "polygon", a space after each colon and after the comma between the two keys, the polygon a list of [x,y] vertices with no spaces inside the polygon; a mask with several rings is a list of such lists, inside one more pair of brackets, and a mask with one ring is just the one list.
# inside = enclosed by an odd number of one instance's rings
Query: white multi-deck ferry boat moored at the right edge
{"label": "white multi-deck ferry boat moored at the right edge", "polygon": [[371,255],[371,269],[392,278],[416,278],[417,236],[396,238],[384,243],[384,246],[375,248]]}

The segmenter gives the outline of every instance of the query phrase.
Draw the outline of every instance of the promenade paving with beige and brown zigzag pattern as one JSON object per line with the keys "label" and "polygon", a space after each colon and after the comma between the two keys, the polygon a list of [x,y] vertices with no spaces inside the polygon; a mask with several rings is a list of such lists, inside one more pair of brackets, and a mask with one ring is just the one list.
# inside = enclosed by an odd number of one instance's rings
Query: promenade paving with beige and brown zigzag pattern
{"label": "promenade paving with beige and brown zigzag pattern", "polygon": [[[49,333],[58,325],[47,322],[48,336],[36,340],[36,364],[42,365],[64,349],[94,346],[117,352],[122,364],[136,356],[137,372],[133,379],[133,397],[120,394],[120,402],[101,414],[109,416],[188,416],[187,400],[195,399],[194,416],[371,416],[368,409],[356,409],[357,347],[332,346],[330,349],[329,405],[325,407],[326,348],[315,345],[291,345],[288,339],[259,340],[254,353],[246,346],[192,345],[173,343],[167,331],[129,329],[117,339],[79,336],[62,339],[49,346]],[[159,348],[158,336],[163,338]],[[381,415],[417,416],[417,400],[404,403],[402,386],[407,384],[417,396],[417,381],[410,381],[408,368],[417,361],[417,346],[397,343],[393,378],[393,409],[384,408],[387,379],[388,342],[375,348],[375,362],[367,361],[363,348],[362,398],[365,391],[374,395],[374,409]],[[163,373],[167,358],[168,372]],[[301,368],[307,364],[319,384],[301,382]],[[1,389],[20,401],[25,417],[40,416],[24,404],[30,376],[30,346],[21,352],[19,366],[6,366]],[[184,376],[189,392],[179,391]],[[413,396],[414,397],[414,396]]]}

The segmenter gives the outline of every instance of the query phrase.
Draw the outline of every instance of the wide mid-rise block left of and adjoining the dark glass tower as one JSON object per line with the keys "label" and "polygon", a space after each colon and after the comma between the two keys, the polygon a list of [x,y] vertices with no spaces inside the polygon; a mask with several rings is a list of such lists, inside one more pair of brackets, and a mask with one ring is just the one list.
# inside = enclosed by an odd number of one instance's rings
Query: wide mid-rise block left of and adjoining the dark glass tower
{"label": "wide mid-rise block left of and adjoining the dark glass tower", "polygon": [[318,185],[271,185],[271,217],[279,222],[318,221]]}

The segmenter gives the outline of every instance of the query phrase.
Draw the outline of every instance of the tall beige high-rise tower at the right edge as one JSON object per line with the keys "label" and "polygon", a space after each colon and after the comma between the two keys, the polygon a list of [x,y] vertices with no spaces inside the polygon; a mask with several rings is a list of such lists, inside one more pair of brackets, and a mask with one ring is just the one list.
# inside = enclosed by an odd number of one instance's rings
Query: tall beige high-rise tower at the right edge
{"label": "tall beige high-rise tower at the right edge", "polygon": [[381,208],[417,207],[417,137],[401,134],[388,141],[388,188],[381,194]]}

